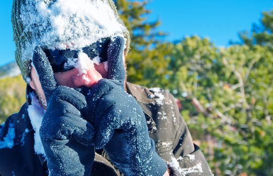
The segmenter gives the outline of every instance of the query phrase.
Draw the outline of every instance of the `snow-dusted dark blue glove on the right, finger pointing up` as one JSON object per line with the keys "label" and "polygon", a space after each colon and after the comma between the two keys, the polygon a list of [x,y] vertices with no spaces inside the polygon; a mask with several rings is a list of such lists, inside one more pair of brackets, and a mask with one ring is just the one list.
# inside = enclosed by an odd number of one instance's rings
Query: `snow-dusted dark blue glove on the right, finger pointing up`
{"label": "snow-dusted dark blue glove on the right, finger pointing up", "polygon": [[87,98],[97,131],[95,146],[104,148],[125,175],[163,175],[167,164],[155,151],[143,110],[124,90],[123,45],[123,38],[112,39],[108,49],[109,79],[99,80]]}

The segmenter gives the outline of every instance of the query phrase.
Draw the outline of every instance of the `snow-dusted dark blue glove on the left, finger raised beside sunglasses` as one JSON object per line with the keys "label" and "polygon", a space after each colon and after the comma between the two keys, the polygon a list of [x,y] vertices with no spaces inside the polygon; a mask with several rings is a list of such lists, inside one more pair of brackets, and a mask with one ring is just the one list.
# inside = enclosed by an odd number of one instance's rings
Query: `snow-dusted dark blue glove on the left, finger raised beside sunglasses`
{"label": "snow-dusted dark blue glove on the left, finger raised beside sunglasses", "polygon": [[50,63],[40,47],[35,48],[33,64],[47,101],[40,136],[50,175],[90,175],[95,130],[82,118],[87,112],[84,95],[56,85]]}

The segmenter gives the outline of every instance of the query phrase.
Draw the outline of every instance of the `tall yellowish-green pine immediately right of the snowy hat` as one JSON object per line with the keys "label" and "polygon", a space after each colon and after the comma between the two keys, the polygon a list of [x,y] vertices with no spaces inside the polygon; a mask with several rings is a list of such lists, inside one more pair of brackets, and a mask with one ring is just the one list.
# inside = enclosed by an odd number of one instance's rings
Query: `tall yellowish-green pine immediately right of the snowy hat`
{"label": "tall yellowish-green pine immediately right of the snowy hat", "polygon": [[160,21],[148,21],[151,11],[146,9],[147,3],[116,1],[131,38],[131,49],[126,57],[128,80],[146,86],[166,86],[171,44],[161,40],[166,34],[157,31]]}

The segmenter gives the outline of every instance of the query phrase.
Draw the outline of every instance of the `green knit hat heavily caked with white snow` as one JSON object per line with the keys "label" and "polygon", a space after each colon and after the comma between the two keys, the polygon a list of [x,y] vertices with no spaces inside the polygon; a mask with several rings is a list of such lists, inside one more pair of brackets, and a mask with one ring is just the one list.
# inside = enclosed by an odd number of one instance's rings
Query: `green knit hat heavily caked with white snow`
{"label": "green knit hat heavily caked with white snow", "polygon": [[125,54],[129,32],[112,0],[14,0],[12,24],[15,58],[26,82],[35,46],[81,49],[104,37],[123,36]]}

